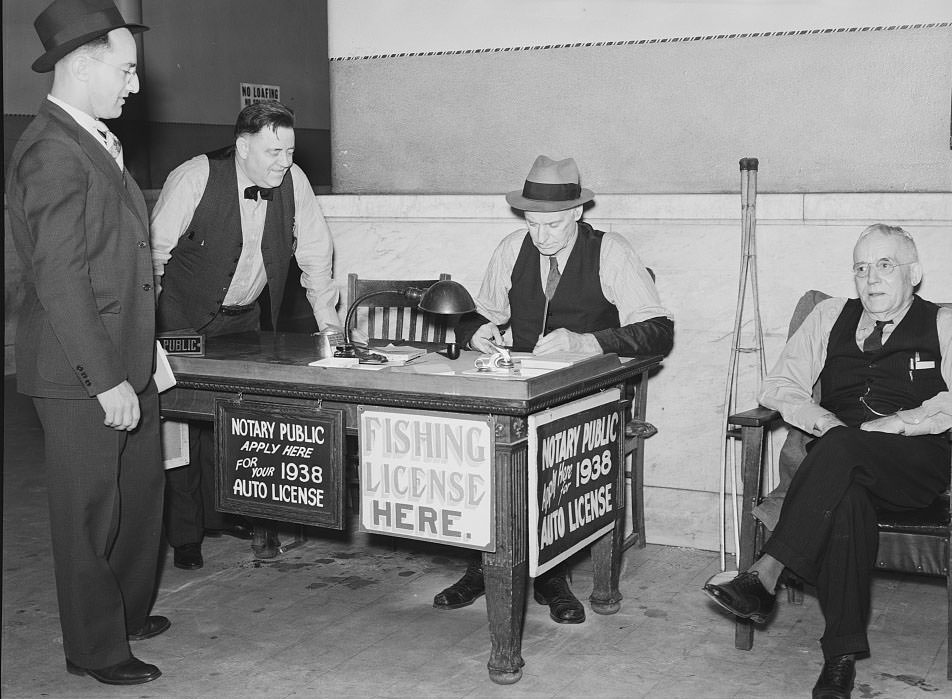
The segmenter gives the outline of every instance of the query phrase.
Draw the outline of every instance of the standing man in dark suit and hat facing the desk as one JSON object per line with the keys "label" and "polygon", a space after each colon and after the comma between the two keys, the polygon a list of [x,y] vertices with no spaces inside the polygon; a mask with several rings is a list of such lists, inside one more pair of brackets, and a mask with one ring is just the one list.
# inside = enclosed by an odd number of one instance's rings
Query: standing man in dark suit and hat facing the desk
{"label": "standing man in dark suit and hat facing the desk", "polygon": [[133,33],[111,0],[56,0],[34,26],[53,87],[13,151],[7,201],[24,269],[17,384],[43,425],[66,668],[106,684],[162,673],[130,640],[149,616],[163,471],[148,214],[101,119],[139,91]]}

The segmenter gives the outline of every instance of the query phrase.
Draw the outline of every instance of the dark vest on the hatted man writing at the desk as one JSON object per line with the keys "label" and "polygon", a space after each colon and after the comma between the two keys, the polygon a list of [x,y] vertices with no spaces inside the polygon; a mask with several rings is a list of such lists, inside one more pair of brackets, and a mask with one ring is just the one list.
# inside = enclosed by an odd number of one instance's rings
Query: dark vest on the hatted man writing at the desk
{"label": "dark vest on the hatted man writing at the desk", "polygon": [[[602,235],[601,231],[579,221],[575,247],[549,302],[545,332],[565,328],[589,333],[619,326],[618,309],[602,293],[599,262]],[[532,351],[543,330],[545,292],[539,272],[539,250],[528,233],[512,268],[509,312],[513,350]]]}

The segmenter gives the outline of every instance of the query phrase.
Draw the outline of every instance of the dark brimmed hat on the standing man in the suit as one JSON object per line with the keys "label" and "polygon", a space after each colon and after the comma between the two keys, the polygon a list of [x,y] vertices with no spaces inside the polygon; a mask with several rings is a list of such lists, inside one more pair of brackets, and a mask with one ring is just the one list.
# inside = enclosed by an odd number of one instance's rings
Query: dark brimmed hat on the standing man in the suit
{"label": "dark brimmed hat on the standing man in the suit", "polygon": [[49,73],[56,62],[83,44],[125,27],[133,34],[143,24],[127,22],[112,0],[56,0],[33,22],[46,53],[33,61],[37,73]]}

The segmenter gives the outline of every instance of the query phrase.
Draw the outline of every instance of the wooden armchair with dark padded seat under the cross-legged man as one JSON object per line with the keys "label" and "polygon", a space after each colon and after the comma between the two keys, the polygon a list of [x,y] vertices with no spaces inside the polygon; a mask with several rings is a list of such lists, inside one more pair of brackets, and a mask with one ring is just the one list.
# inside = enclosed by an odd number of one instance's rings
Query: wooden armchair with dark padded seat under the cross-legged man
{"label": "wooden armchair with dark padded seat under the cross-legged man", "polygon": [[[819,292],[808,292],[807,296]],[[825,295],[822,295],[825,296]],[[807,297],[805,296],[804,299]],[[809,303],[801,299],[801,303]],[[814,296],[813,303],[816,302]],[[952,304],[940,304],[952,307]],[[799,306],[798,306],[799,308]],[[812,308],[812,305],[811,305]],[[805,315],[803,316],[805,317]],[[796,319],[795,319],[796,320]],[[802,320],[802,317],[799,318]],[[792,334],[799,322],[791,323]],[[741,440],[741,471],[744,495],[741,506],[740,555],[738,570],[746,570],[760,554],[767,531],[754,515],[761,505],[764,444],[772,426],[782,423],[780,413],[768,408],[737,413],[728,417],[728,433]],[[802,439],[803,433],[790,429],[787,437]],[[952,432],[949,433],[952,440]],[[952,461],[952,460],[950,460]],[[952,463],[949,464],[952,473]],[[877,570],[900,573],[936,575],[946,579],[948,593],[947,617],[949,640],[946,643],[948,659],[946,675],[952,680],[952,547],[949,546],[950,499],[949,493],[941,495],[927,508],[910,512],[880,512],[879,552]],[[791,596],[796,600],[796,594]],[[735,619],[734,646],[750,650],[754,643],[754,627],[749,620]]]}

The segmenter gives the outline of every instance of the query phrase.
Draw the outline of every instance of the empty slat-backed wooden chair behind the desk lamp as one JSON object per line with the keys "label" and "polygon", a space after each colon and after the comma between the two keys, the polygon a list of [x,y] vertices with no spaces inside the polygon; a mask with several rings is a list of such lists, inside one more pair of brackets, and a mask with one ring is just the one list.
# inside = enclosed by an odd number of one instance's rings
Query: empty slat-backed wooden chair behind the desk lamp
{"label": "empty slat-backed wooden chair behind the desk lamp", "polygon": [[[347,303],[373,291],[397,291],[416,287],[429,289],[437,281],[449,279],[441,274],[439,279],[358,279],[356,274],[347,275]],[[381,294],[361,302],[354,314],[351,328],[366,329],[375,339],[408,340],[410,342],[446,342],[446,319],[423,313],[417,302],[401,294]],[[366,308],[366,311],[363,310]]]}

